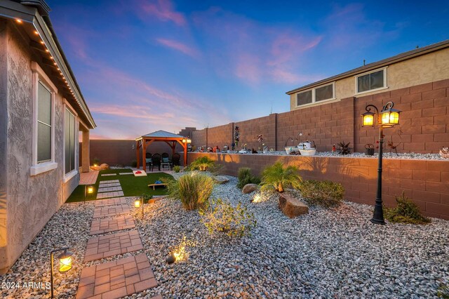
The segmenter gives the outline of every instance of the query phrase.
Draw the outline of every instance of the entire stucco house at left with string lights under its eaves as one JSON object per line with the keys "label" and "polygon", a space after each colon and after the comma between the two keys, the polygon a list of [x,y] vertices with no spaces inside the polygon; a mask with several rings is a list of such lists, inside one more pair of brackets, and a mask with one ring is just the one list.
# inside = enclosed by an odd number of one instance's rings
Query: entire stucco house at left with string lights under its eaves
{"label": "entire stucco house at left with string lights under its eaves", "polygon": [[0,0],[0,273],[89,167],[89,112],[44,0]]}

